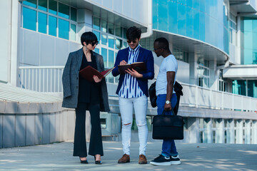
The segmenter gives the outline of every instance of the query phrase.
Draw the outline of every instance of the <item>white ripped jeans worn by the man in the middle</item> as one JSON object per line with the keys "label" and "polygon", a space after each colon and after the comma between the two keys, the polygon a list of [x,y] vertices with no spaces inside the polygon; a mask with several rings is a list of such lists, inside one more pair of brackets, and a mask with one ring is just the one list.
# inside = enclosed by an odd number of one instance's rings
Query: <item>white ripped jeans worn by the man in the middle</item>
{"label": "white ripped jeans worn by the man in the middle", "polygon": [[119,97],[119,108],[122,120],[122,145],[124,154],[130,155],[131,126],[133,122],[133,108],[135,110],[136,125],[138,127],[139,155],[146,155],[146,144],[148,138],[148,128],[146,124],[147,97],[143,95],[139,98]]}

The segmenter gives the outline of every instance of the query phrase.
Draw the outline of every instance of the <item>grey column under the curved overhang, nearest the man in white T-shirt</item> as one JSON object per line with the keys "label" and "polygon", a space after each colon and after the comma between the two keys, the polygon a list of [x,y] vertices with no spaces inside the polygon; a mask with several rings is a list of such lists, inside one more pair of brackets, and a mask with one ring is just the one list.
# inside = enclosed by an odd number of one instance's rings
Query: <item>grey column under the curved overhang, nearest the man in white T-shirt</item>
{"label": "grey column under the curved overhang, nearest the man in white T-shirt", "polygon": [[197,85],[197,55],[195,53],[188,53],[189,61],[189,83]]}

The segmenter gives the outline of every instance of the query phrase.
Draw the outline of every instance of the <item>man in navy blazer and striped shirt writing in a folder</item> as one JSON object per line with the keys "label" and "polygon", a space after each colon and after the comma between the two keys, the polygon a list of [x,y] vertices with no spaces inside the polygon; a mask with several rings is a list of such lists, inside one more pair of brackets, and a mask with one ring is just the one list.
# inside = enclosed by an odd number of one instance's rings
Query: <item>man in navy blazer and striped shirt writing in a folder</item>
{"label": "man in navy blazer and striped shirt writing in a folder", "polygon": [[[146,124],[146,110],[148,104],[148,79],[153,79],[153,53],[139,45],[141,38],[140,28],[135,26],[126,31],[129,48],[120,50],[116,56],[113,76],[119,76],[119,85],[116,94],[119,95],[119,108],[122,120],[122,145],[124,155],[118,163],[130,162],[131,125],[133,122],[133,108],[135,110],[136,125],[139,138],[139,164],[146,164],[146,144],[148,128]],[[119,73],[118,65],[126,65],[134,62],[144,62],[146,71],[127,69],[126,73]]]}

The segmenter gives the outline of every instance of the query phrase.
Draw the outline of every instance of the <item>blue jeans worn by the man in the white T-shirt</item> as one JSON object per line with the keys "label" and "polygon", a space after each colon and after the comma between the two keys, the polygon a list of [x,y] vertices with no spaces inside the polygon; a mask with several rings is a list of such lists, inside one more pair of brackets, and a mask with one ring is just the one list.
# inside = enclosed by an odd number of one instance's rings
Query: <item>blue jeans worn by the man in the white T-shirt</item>
{"label": "blue jeans worn by the man in the white T-shirt", "polygon": [[[161,94],[157,96],[157,113],[158,115],[161,115],[163,113],[164,110],[164,105],[166,102],[166,94]],[[177,102],[177,97],[176,94],[173,93],[172,97],[171,97],[171,108],[173,110],[173,108],[175,107]],[[166,111],[165,113],[166,115],[173,115],[173,113],[170,111]],[[178,152],[176,151],[176,145],[174,140],[163,140],[163,145],[162,145],[162,152],[161,155],[169,157],[170,155],[172,156],[176,156],[178,155]]]}

